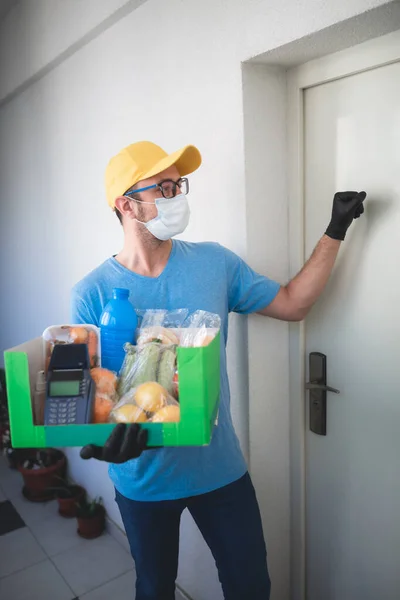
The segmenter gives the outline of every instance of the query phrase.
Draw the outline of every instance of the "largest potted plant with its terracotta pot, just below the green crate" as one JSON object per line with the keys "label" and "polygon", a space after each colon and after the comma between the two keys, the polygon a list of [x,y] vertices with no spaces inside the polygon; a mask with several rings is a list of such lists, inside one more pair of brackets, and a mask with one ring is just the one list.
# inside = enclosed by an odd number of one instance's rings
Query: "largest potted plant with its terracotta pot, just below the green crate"
{"label": "largest potted plant with its terracotta pot, just below the green crate", "polygon": [[17,468],[24,479],[22,493],[25,498],[32,502],[47,502],[55,498],[54,488],[60,477],[65,477],[67,459],[55,448],[31,450]]}

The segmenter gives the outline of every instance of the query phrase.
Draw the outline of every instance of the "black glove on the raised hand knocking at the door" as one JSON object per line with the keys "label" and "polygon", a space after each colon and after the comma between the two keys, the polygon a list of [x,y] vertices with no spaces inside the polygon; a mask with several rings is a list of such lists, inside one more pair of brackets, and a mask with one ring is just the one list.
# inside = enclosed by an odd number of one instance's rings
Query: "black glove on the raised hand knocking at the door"
{"label": "black glove on the raised hand knocking at the door", "polygon": [[365,192],[338,192],[333,199],[332,218],[326,230],[333,240],[344,240],[346,232],[353,222],[363,212]]}

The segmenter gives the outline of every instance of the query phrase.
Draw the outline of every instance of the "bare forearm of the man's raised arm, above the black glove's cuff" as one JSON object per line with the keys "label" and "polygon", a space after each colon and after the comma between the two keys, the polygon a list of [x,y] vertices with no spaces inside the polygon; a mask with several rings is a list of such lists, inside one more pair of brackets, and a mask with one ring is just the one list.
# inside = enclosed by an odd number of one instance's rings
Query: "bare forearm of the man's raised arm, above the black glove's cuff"
{"label": "bare forearm of the man's raised arm, above the black glove's cuff", "polygon": [[286,286],[291,302],[303,318],[324,290],[340,244],[340,241],[324,235],[300,273]]}

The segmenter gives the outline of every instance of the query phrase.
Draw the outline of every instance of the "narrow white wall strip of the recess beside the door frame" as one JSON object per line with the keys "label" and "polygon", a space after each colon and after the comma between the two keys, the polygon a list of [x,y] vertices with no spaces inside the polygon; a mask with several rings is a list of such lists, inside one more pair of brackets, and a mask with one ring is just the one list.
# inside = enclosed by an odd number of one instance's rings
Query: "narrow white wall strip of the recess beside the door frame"
{"label": "narrow white wall strip of the recess beside the door frame", "polygon": [[[247,258],[258,271],[286,282],[285,72],[264,65],[245,65],[243,100]],[[249,320],[248,335],[250,464],[254,484],[263,498],[269,566],[280,581],[278,597],[288,598],[290,581],[285,577],[290,551],[288,325],[254,316]],[[268,442],[262,444],[262,439]]]}

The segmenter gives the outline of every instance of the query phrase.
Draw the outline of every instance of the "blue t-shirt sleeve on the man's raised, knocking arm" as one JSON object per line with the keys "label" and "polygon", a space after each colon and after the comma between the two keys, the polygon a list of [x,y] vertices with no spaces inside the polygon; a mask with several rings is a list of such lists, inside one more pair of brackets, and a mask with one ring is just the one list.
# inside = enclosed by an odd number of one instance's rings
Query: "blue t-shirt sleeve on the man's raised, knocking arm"
{"label": "blue t-shirt sleeve on the man's raised, knocking arm", "polygon": [[229,312],[250,314],[275,299],[280,284],[253,271],[237,254],[224,248]]}

